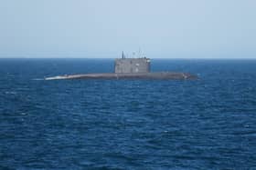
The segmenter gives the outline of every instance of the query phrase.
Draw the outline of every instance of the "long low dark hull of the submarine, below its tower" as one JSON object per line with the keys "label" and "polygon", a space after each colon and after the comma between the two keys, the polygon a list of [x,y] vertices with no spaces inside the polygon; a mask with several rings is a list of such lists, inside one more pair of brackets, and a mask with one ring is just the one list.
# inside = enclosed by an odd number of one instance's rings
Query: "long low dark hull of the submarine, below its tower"
{"label": "long low dark hull of the submarine, below its tower", "polygon": [[101,74],[83,74],[83,75],[59,75],[47,77],[45,80],[60,80],[60,79],[158,79],[158,80],[185,80],[197,79],[197,75],[176,72],[155,72],[155,73],[131,73],[131,74],[116,74],[116,73],[101,73]]}

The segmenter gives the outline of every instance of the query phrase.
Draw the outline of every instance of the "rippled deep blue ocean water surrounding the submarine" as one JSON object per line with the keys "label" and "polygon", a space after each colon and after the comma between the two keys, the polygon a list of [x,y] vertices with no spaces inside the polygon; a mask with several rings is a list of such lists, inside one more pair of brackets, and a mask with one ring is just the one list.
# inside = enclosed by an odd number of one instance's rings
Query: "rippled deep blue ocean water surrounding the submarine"
{"label": "rippled deep blue ocean water surrounding the submarine", "polygon": [[55,80],[113,59],[0,59],[0,169],[256,169],[256,60],[153,59],[198,80]]}

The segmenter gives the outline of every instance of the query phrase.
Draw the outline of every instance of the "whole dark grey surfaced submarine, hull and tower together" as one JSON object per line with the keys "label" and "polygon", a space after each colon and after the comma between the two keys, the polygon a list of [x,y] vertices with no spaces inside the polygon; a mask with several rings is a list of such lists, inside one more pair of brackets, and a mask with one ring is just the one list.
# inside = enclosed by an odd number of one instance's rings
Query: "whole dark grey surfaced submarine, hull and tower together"
{"label": "whole dark grey surfaced submarine, hull and tower together", "polygon": [[67,79],[149,79],[149,80],[186,80],[197,79],[197,75],[180,72],[151,72],[151,60],[147,57],[121,58],[114,60],[113,73],[91,73],[80,75],[58,75],[46,77],[45,80]]}

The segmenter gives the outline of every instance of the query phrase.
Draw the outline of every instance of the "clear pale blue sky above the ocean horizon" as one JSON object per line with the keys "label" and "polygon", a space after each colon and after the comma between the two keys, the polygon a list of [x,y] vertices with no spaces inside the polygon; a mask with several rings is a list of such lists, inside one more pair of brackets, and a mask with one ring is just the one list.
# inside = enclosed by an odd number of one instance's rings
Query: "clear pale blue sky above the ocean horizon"
{"label": "clear pale blue sky above the ocean horizon", "polygon": [[256,58],[255,0],[0,0],[0,57]]}

